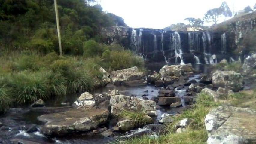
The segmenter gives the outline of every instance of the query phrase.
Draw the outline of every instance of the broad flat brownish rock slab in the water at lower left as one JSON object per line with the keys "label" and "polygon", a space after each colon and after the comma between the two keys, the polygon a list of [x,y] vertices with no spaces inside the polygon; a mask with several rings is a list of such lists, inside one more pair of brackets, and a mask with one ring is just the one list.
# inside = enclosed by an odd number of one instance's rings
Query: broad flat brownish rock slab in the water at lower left
{"label": "broad flat brownish rock slab in the water at lower left", "polygon": [[41,131],[47,136],[63,136],[79,131],[96,129],[108,120],[106,109],[76,109],[41,115],[38,120],[46,122]]}

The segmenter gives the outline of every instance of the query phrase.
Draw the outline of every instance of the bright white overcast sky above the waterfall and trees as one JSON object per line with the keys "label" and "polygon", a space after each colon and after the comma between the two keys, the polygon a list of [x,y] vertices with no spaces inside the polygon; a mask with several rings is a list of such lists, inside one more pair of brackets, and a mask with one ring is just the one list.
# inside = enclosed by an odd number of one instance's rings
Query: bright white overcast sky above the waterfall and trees
{"label": "bright white overcast sky above the waterfall and trees", "polygon": [[[124,19],[132,28],[163,29],[171,24],[185,23],[187,17],[203,18],[207,10],[219,8],[223,0],[102,0],[103,11]],[[255,0],[226,0],[231,11],[238,11]],[[222,19],[223,20],[223,19]]]}

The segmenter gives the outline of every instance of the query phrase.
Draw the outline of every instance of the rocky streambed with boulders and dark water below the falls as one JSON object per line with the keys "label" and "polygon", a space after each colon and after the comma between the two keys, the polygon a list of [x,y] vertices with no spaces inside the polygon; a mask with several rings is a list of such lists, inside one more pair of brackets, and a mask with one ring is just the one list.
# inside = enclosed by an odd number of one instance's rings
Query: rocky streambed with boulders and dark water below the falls
{"label": "rocky streambed with boulders and dark water below the falls", "polygon": [[[13,108],[1,115],[0,143],[94,144],[145,133],[157,136],[163,133],[161,124],[172,122],[169,116],[190,109],[200,91],[209,93],[217,101],[220,94],[250,89],[253,83],[250,80],[244,83],[243,76],[233,71],[210,73],[209,66],[162,65],[154,69],[150,65],[148,74],[137,67],[111,73],[101,68],[105,87],[70,95],[64,100],[39,100],[29,107]],[[118,118],[117,114],[123,110],[143,110],[147,123],[138,126],[135,121]],[[180,121],[177,132],[184,131],[190,122],[186,118]],[[211,123],[207,121],[207,124],[211,127]],[[209,141],[216,140],[217,134],[210,133],[212,140]]]}

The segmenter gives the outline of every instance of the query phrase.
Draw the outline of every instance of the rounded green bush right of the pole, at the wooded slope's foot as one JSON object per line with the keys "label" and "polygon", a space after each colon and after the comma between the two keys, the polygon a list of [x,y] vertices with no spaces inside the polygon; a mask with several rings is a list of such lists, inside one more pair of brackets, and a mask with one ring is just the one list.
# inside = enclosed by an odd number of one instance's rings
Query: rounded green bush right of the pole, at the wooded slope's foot
{"label": "rounded green bush right of the pole, at the wooded slope's foot", "polygon": [[101,56],[104,51],[105,48],[96,41],[89,40],[84,43],[85,57]]}

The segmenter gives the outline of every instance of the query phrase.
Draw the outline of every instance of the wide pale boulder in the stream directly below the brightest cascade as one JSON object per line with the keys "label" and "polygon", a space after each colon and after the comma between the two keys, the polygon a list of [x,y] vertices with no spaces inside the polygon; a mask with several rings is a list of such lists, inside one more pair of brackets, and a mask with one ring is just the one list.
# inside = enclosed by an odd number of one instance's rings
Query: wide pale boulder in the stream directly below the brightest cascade
{"label": "wide pale boulder in the stream directly below the brightest cascade", "polygon": [[171,65],[171,66],[163,66],[162,69],[160,69],[159,74],[161,75],[161,78],[165,78],[167,76],[175,76],[180,77],[182,73],[184,72],[193,72],[193,68],[191,64],[185,64],[185,65]]}

